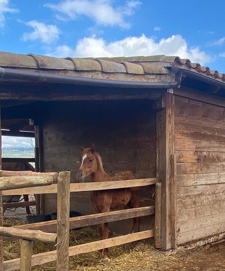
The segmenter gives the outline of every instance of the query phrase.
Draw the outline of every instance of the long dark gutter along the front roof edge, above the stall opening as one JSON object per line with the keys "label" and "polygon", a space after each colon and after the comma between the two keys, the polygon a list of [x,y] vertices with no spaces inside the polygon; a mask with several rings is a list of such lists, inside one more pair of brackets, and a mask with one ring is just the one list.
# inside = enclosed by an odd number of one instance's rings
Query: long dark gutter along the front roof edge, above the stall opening
{"label": "long dark gutter along the front roof edge, above the stall opening", "polygon": [[142,88],[142,89],[168,89],[176,88],[180,85],[182,71],[175,70],[175,82],[137,82],[137,81],[118,81],[99,78],[87,78],[68,76],[61,74],[49,74],[41,71],[26,71],[0,67],[0,78],[20,79],[32,82],[61,83],[82,86],[99,86],[99,87],[119,87],[119,88]]}

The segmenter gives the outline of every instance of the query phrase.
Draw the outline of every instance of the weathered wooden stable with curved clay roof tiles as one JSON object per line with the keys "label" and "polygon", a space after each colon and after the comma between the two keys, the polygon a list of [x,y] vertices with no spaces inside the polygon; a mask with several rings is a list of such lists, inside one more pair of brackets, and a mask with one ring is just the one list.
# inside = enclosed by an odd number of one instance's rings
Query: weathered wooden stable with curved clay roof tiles
{"label": "weathered wooden stable with curved clay roof tiles", "polygon": [[[224,74],[166,56],[63,59],[0,52],[0,66],[2,123],[34,120],[36,169],[70,171],[70,210],[96,217],[90,186],[84,189],[75,178],[80,147],[93,142],[107,173],[135,174],[141,208],[155,201],[155,185],[141,185],[143,179],[161,185],[156,219],[142,209],[148,216],[140,225],[143,234],[160,231],[156,247],[175,252],[225,237]],[[32,129],[7,134],[24,136]],[[56,211],[55,184],[2,193],[25,191],[40,194],[41,213]],[[131,217],[130,210],[123,212]],[[114,218],[109,229],[127,233],[129,221]],[[99,215],[104,219],[109,217]],[[72,227],[76,223],[70,219]],[[53,221],[42,226],[56,230]]]}

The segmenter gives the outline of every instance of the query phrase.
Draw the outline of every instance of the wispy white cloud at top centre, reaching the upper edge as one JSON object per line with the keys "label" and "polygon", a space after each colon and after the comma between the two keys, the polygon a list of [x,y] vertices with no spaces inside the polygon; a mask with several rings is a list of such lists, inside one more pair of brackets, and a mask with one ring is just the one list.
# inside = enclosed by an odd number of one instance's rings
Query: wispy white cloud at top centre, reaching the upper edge
{"label": "wispy white cloud at top centre, reaching the upper edge", "polygon": [[[47,3],[44,6],[61,12],[72,20],[79,15],[85,15],[92,18],[97,25],[129,28],[130,24],[124,21],[124,17],[132,15],[140,4],[140,1],[127,1],[125,6],[114,8],[111,0],[65,0],[59,4]],[[66,19],[59,15],[57,18]]]}

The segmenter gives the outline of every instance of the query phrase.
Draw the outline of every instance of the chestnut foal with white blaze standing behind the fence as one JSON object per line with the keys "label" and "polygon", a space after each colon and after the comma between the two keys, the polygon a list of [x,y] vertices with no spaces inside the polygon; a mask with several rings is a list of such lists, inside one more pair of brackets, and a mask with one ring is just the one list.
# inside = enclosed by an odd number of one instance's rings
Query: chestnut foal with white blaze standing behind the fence
{"label": "chestnut foal with white blaze standing behind the fence", "polygon": [[[97,181],[121,181],[135,179],[134,175],[128,172],[115,174],[110,177],[105,173],[100,155],[96,152],[93,145],[92,148],[81,148],[81,167],[77,171],[77,179],[84,181],[85,177],[91,177],[92,182]],[[96,213],[109,212],[110,209],[129,209],[139,207],[140,188],[121,188],[91,191],[90,200],[94,205]],[[132,218],[130,233],[139,230],[140,217]],[[107,239],[109,236],[108,223],[98,224],[100,239]],[[103,253],[103,263],[108,262],[108,248],[99,250]]]}

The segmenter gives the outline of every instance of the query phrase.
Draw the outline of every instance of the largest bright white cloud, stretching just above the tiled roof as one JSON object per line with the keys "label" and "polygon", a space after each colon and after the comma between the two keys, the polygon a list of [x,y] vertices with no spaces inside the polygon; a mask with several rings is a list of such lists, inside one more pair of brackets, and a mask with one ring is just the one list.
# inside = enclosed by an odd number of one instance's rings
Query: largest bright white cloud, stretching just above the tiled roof
{"label": "largest bright white cloud, stretching just above the tiled roof", "polygon": [[172,35],[162,38],[156,42],[154,38],[127,37],[119,41],[107,43],[102,38],[95,36],[83,38],[75,49],[69,46],[58,46],[56,50],[47,52],[48,55],[57,57],[114,57],[114,56],[136,56],[136,55],[175,55],[180,58],[189,58],[192,62],[200,62],[202,65],[209,62],[211,57],[199,47],[188,48],[186,40],[181,35]]}

